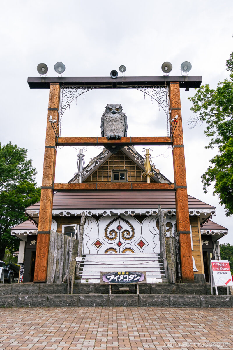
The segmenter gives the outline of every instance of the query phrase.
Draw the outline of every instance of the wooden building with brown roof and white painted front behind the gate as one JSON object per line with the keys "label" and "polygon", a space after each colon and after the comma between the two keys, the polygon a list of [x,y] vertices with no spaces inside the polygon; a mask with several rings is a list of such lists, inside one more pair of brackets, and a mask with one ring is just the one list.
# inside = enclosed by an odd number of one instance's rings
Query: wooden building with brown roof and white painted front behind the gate
{"label": "wooden building with brown roof and white painted front behind the gate", "polygon": [[[147,283],[168,282],[160,260],[158,214],[161,206],[166,216],[167,239],[170,230],[175,237],[175,193],[131,190],[137,183],[146,182],[142,175],[143,159],[132,146],[125,146],[116,154],[103,149],[83,169],[81,181],[91,185],[102,183],[104,189],[54,193],[52,231],[79,239],[80,216],[85,213],[83,264],[78,282],[99,282],[100,272],[108,271],[109,258],[112,266],[117,265],[120,258],[128,267],[146,271]],[[171,183],[154,166],[152,172],[151,182]],[[76,177],[69,181],[77,182]],[[118,189],[111,186],[108,189],[112,182],[118,183]],[[194,278],[197,282],[204,277],[208,281],[210,253],[216,259],[220,257],[218,240],[227,234],[227,229],[210,221],[215,215],[212,205],[188,196],[188,207]],[[12,235],[21,240],[19,263],[25,264],[24,282],[34,278],[39,208],[40,202],[26,208],[30,220],[12,229]],[[133,261],[132,256],[136,257]]]}

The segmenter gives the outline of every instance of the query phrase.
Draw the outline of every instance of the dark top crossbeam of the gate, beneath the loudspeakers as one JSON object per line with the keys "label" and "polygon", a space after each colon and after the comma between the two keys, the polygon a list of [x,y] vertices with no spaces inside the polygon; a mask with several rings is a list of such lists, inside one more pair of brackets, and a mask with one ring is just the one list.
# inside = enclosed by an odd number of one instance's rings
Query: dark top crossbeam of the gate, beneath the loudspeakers
{"label": "dark top crossbeam of the gate, beneath the loudspeakers", "polygon": [[70,86],[103,86],[108,89],[124,89],[135,86],[154,86],[180,83],[181,88],[200,87],[201,76],[161,76],[161,77],[28,77],[30,89],[49,89],[50,83]]}

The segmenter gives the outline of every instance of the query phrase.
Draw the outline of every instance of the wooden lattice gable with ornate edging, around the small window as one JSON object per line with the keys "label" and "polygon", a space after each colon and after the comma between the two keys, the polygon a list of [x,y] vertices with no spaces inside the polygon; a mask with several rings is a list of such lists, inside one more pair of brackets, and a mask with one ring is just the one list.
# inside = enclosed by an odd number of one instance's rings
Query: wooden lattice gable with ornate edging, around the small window
{"label": "wooden lattice gable with ornate edging, around the small window", "polygon": [[[103,151],[91,159],[88,165],[83,169],[86,177],[82,178],[82,182],[111,182],[111,170],[127,170],[128,181],[145,182],[146,179],[142,176],[142,173],[145,171],[143,160],[143,156],[132,146],[125,146],[117,154],[112,154],[108,149],[104,148]],[[152,171],[154,172],[152,181],[170,183],[154,165],[152,165]],[[77,183],[78,179],[73,177],[69,182]]]}

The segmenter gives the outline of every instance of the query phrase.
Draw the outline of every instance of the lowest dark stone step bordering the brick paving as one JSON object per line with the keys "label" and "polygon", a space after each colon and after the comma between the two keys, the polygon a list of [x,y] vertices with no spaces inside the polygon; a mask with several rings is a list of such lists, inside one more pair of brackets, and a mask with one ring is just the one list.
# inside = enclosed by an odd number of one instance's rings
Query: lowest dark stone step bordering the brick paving
{"label": "lowest dark stone step bordering the brick paving", "polygon": [[0,295],[0,307],[232,308],[233,295],[9,294]]}

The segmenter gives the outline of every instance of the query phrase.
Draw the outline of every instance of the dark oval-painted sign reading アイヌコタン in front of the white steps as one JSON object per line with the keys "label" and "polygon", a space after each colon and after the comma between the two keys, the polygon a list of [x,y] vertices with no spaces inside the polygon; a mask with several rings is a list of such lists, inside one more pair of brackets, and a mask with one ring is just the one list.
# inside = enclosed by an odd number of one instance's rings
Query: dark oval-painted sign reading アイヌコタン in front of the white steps
{"label": "dark oval-painted sign reading \u30a2\u30a4\u30cc\u30b3\u30bf\u30f3 in front of the white steps", "polygon": [[143,272],[132,272],[132,271],[121,271],[121,272],[103,272],[101,273],[100,283],[146,283],[146,271]]}

